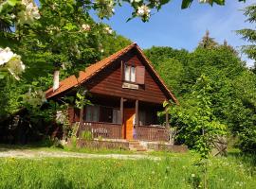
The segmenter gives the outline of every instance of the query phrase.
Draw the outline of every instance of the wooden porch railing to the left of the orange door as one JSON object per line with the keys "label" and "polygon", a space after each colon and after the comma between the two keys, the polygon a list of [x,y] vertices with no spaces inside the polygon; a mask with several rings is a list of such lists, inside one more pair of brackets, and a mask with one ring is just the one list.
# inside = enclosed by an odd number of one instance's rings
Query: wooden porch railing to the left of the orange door
{"label": "wooden porch railing to the left of the orange door", "polygon": [[88,130],[94,138],[121,139],[121,125],[100,122],[84,122],[82,130]]}

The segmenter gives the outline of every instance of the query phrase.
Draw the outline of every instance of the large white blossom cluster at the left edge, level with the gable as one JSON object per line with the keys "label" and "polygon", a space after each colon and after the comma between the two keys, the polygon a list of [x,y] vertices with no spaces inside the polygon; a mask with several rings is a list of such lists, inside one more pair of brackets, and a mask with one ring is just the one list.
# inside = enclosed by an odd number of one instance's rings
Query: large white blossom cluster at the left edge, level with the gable
{"label": "large white blossom cluster at the left edge, level with the gable", "polygon": [[14,78],[19,80],[19,75],[22,74],[26,66],[22,62],[21,57],[13,53],[9,47],[0,48],[0,78],[3,78],[6,71]]}

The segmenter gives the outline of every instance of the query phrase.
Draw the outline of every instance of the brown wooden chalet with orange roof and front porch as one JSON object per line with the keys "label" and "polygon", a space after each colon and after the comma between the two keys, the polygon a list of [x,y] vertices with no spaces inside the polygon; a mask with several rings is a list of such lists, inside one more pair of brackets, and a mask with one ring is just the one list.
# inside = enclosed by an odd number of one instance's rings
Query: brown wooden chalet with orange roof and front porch
{"label": "brown wooden chalet with orange roof and front porch", "polygon": [[[159,125],[156,112],[164,111],[164,100],[177,100],[137,43],[87,67],[78,79],[65,78],[57,90],[46,91],[46,98],[74,95],[79,82],[92,94],[93,103],[84,107],[82,129],[90,130],[94,137],[169,140],[168,121]],[[70,107],[68,114],[71,123],[80,121],[80,111]],[[167,113],[165,119],[169,119]]]}

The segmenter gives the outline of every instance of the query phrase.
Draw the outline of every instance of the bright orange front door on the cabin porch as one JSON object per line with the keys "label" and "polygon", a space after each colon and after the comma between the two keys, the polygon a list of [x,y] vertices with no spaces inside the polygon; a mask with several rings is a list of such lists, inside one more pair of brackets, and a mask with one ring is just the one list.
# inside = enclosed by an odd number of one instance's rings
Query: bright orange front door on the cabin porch
{"label": "bright orange front door on the cabin porch", "polygon": [[127,140],[133,140],[133,130],[134,130],[134,117],[135,117],[135,109],[124,109],[123,110],[123,118],[124,118],[124,126],[123,126],[123,138]]}

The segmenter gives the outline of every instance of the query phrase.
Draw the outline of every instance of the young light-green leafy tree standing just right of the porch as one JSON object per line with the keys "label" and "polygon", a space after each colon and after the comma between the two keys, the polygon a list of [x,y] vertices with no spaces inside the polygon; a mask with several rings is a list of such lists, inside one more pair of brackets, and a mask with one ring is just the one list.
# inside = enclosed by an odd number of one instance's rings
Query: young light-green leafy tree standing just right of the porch
{"label": "young light-green leafy tree standing just right of the porch", "polygon": [[189,106],[173,108],[169,105],[167,109],[181,125],[179,129],[183,131],[180,137],[193,146],[203,159],[208,158],[214,139],[226,134],[226,126],[216,120],[210,107],[211,84],[208,77],[199,77],[192,87]]}

